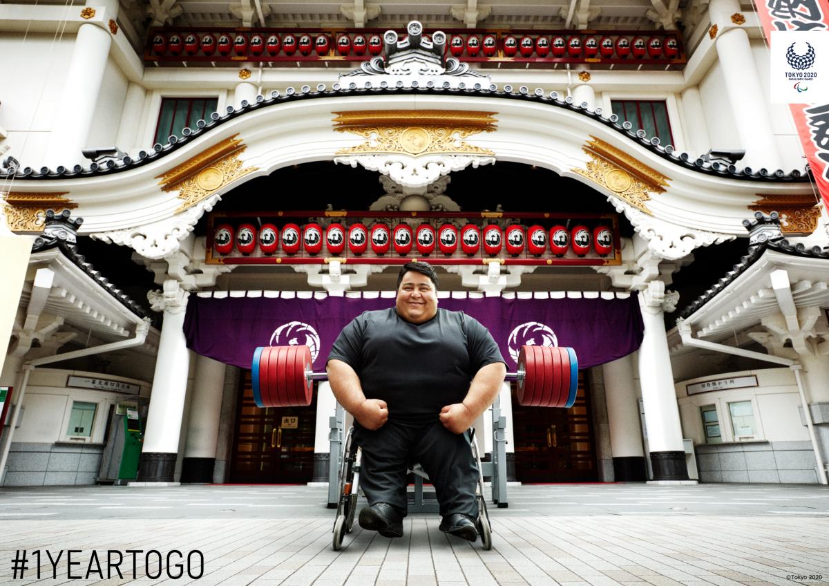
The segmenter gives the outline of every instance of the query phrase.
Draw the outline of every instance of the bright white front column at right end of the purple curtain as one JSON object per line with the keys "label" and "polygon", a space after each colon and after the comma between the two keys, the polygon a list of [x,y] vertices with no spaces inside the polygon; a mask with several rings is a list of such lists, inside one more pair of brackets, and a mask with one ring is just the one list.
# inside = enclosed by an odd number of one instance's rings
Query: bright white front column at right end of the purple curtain
{"label": "bright white front column at right end of the purple curtain", "polygon": [[664,321],[664,312],[672,311],[678,298],[678,293],[665,293],[662,281],[648,283],[639,297],[645,325],[639,347],[639,383],[655,481],[688,479]]}

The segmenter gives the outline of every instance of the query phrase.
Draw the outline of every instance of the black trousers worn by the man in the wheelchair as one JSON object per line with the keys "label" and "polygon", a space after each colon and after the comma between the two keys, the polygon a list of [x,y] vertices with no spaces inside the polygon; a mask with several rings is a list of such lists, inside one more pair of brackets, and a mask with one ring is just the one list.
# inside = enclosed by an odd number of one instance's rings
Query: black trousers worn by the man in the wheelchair
{"label": "black trousers worn by the man in the wheelchair", "polygon": [[354,439],[362,448],[360,486],[369,505],[386,502],[405,516],[406,467],[419,463],[434,485],[442,516],[464,513],[478,518],[478,464],[468,431],[452,433],[439,421],[426,425],[386,421],[375,431],[356,424]]}

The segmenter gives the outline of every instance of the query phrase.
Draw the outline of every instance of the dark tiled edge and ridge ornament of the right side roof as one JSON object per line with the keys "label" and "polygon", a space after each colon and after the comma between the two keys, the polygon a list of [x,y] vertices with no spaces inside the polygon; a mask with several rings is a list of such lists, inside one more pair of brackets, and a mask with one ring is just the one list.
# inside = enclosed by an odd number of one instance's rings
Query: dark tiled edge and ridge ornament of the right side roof
{"label": "dark tiled edge and ridge ornament of the right side roof", "polygon": [[[788,240],[783,238],[783,233],[780,230],[780,219],[778,213],[773,211],[766,216],[762,211],[754,214],[753,220],[743,220],[743,225],[746,230],[749,230],[749,251],[742,258],[739,263],[734,264],[734,268],[730,270],[725,277],[720,278],[714,285],[711,286],[699,298],[683,308],[679,312],[681,319],[686,319],[693,315],[698,309],[702,308],[705,303],[710,302],[723,289],[728,287],[739,275],[743,274],[746,269],[757,262],[766,250],[772,250],[783,254],[791,254],[793,256],[800,256],[810,259],[827,259],[829,260],[829,247],[821,248],[820,246],[806,246],[798,243],[793,245]],[[829,269],[829,266],[827,266]]]}

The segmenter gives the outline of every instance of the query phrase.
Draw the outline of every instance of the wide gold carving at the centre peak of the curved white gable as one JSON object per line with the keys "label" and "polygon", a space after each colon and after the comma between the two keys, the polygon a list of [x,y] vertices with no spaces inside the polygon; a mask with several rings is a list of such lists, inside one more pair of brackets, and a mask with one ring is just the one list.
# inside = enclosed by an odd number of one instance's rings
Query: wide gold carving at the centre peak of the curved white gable
{"label": "wide gold carving at the centre peak of the curved white gable", "polygon": [[383,110],[334,112],[334,130],[366,138],[356,147],[342,148],[337,155],[355,153],[421,154],[461,153],[494,156],[488,148],[475,147],[463,141],[480,132],[491,133],[497,128],[495,112],[464,112],[459,110]]}

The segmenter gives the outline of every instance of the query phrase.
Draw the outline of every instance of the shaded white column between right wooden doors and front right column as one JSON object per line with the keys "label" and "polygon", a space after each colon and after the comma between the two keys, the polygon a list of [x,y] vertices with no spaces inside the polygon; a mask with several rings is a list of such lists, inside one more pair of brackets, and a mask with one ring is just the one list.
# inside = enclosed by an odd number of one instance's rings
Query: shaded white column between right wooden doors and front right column
{"label": "shaded white column between right wooden doors and front right column", "polygon": [[[610,426],[610,447],[613,451],[613,467],[617,472],[617,481],[632,480],[619,478],[618,468],[624,463],[641,466],[645,471],[644,450],[642,449],[642,432],[639,426],[639,406],[636,391],[633,389],[633,358],[623,356],[603,365],[604,398],[608,405],[608,424]],[[619,460],[617,466],[617,458]],[[641,463],[631,458],[639,458]],[[627,469],[627,467],[625,467]],[[642,480],[642,478],[638,478]]]}

